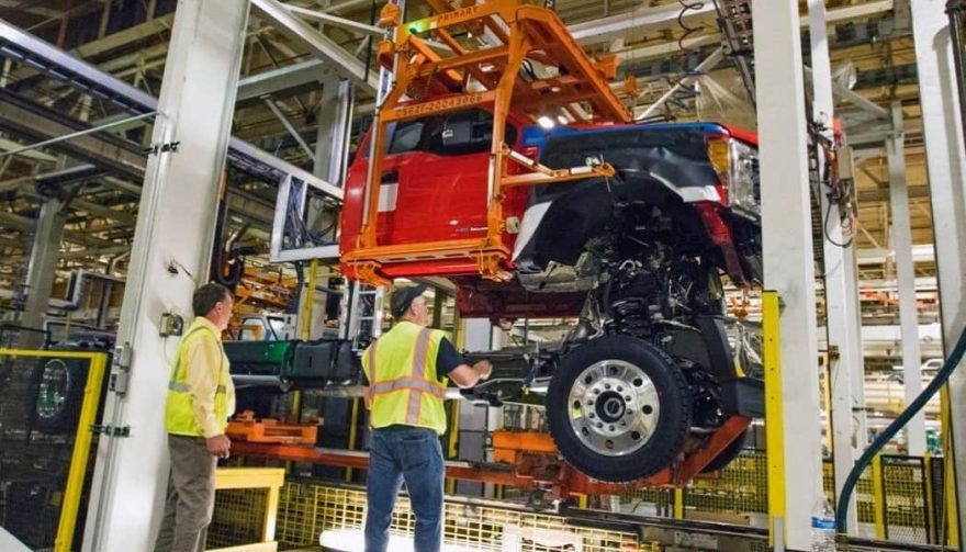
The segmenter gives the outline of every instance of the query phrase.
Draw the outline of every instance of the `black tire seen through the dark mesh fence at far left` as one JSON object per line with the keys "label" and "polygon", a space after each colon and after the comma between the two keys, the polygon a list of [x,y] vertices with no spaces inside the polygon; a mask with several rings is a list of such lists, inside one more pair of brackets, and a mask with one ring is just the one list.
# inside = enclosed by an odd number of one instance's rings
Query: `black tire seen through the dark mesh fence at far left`
{"label": "black tire seen through the dark mesh fence at far left", "polygon": [[76,431],[87,374],[87,360],[43,359],[31,373],[32,428],[45,433]]}

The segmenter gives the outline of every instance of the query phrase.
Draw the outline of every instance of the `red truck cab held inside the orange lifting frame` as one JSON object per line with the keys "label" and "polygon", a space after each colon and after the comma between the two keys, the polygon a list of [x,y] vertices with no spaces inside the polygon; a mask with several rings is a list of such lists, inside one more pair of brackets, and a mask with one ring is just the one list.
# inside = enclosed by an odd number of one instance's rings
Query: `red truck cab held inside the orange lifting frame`
{"label": "red truck cab held inside the orange lifting frame", "polygon": [[[526,120],[510,115],[506,142],[518,151]],[[483,109],[468,109],[391,124],[389,144],[382,160],[379,193],[377,245],[403,245],[425,241],[482,237],[486,234],[492,114]],[[342,255],[359,247],[364,211],[366,178],[369,170],[371,129],[359,147],[346,180],[339,249]],[[510,172],[516,169],[510,166]],[[503,201],[504,214],[516,221],[527,206],[529,191],[515,188]],[[512,226],[512,223],[508,224]],[[510,228],[513,229],[513,228]],[[504,232],[507,249],[513,250],[515,235]],[[505,267],[512,270],[513,267]],[[350,278],[348,263],[342,270]],[[416,260],[382,267],[390,278],[420,275],[478,274],[471,259]]]}

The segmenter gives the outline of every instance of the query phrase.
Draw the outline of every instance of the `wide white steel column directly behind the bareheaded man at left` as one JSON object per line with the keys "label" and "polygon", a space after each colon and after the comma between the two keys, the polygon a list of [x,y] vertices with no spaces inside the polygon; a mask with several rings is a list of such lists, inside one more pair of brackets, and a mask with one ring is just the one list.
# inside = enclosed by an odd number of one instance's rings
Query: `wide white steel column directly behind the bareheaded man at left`
{"label": "wide white steel column directly behind the bareheaded man at left", "polygon": [[247,1],[178,3],[153,143],[180,148],[148,159],[112,369],[117,387],[104,410],[104,424],[131,427],[131,437],[100,439],[85,550],[149,550],[157,533],[168,476],[166,358],[178,345],[157,324],[167,312],[193,317],[191,295],[203,283],[194,275],[209,270],[247,21]]}

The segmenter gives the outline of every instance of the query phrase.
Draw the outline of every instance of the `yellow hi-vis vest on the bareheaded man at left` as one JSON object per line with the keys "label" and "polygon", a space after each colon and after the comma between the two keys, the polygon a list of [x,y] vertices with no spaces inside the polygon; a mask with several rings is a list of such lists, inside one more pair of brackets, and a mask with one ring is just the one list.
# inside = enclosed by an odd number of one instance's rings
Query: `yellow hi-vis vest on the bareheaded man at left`
{"label": "yellow hi-vis vest on the bareheaded man at left", "polygon": [[224,348],[222,348],[221,336],[211,326],[201,322],[201,317],[198,317],[188,327],[184,338],[181,339],[181,343],[178,346],[178,354],[175,358],[175,365],[171,367],[171,380],[168,382],[168,399],[165,404],[165,428],[172,435],[204,436],[204,430],[199,426],[194,417],[191,396],[188,394],[188,348],[199,339],[215,340],[218,343],[218,349],[222,351],[221,364],[218,367],[218,386],[215,390],[214,399],[215,420],[217,420],[223,432],[228,425],[228,393],[234,395],[228,361],[225,358]]}

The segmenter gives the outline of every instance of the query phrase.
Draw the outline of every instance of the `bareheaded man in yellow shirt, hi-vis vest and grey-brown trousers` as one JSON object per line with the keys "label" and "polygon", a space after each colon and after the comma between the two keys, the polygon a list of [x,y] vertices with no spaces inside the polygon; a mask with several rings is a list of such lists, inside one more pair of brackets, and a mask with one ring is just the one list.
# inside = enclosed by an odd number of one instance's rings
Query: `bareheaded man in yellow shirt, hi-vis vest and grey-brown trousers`
{"label": "bareheaded man in yellow shirt, hi-vis vest and grey-brown trousers", "polygon": [[155,552],[201,552],[215,505],[215,465],[228,458],[225,436],[235,412],[235,387],[222,331],[228,327],[235,300],[225,286],[202,285],[194,292],[194,322],[188,327],[165,405],[171,474],[161,530]]}

